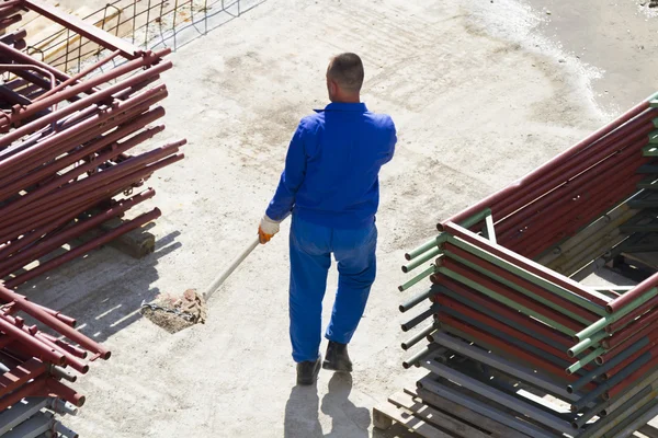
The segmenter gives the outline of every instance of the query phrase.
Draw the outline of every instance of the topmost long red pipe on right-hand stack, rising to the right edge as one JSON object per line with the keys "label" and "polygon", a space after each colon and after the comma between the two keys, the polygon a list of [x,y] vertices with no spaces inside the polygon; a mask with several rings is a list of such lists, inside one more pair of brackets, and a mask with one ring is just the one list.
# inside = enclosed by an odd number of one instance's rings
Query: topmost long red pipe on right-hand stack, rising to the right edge
{"label": "topmost long red pipe on right-hand stack, rising to the right edge", "polygon": [[485,199],[480,200],[479,203],[477,203],[477,204],[462,210],[461,212],[452,216],[451,218],[444,220],[441,223],[442,227],[439,227],[439,231],[443,231],[443,229],[445,229],[445,224],[449,222],[453,222],[453,223],[462,222],[464,219],[477,214],[478,211],[481,211],[485,208],[489,208],[490,206],[492,206],[495,204],[506,200],[506,198],[514,195],[522,187],[527,186],[532,182],[537,181],[541,176],[546,175],[552,170],[557,169],[557,168],[561,166],[563,164],[565,164],[566,162],[570,161],[574,155],[588,149],[595,141],[601,140],[604,136],[613,132],[615,129],[622,127],[628,120],[631,120],[634,117],[644,113],[647,108],[649,108],[649,102],[651,101],[651,99],[654,99],[654,96],[655,95],[651,95],[648,99],[642,101],[640,103],[638,103],[637,105],[635,105],[634,107],[628,110],[626,113],[622,114],[620,117],[614,119],[613,122],[599,128],[598,130],[595,130],[594,132],[592,132],[588,137],[586,137],[585,139],[580,140],[579,142],[577,142],[569,149],[565,150],[564,152],[557,154],[556,157],[551,159],[548,162],[544,163],[540,168],[527,173],[525,176],[521,177],[520,180],[512,183],[508,187],[506,187],[499,192],[496,192],[492,195],[487,196]]}

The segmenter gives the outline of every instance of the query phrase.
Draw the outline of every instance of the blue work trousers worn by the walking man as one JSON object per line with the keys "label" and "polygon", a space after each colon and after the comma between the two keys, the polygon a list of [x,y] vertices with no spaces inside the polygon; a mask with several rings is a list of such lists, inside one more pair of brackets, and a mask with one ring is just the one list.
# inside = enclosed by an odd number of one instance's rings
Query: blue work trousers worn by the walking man
{"label": "blue work trousers worn by the walking man", "polygon": [[325,336],[348,344],[363,315],[375,281],[377,229],[332,229],[293,216],[291,227],[291,342],[296,362],[319,356],[322,298],[331,254],[338,262],[338,291]]}

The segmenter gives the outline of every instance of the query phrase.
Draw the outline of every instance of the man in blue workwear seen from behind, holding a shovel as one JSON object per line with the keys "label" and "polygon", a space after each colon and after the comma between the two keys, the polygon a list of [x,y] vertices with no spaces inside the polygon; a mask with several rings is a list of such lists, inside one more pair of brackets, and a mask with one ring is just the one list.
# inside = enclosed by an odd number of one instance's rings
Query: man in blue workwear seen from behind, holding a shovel
{"label": "man in blue workwear seen from behind, holding a shovel", "polygon": [[[290,316],[297,384],[313,384],[320,364],[333,371],[352,371],[347,345],[375,280],[378,173],[393,158],[397,137],[389,116],[371,113],[361,103],[363,77],[355,54],[331,59],[327,69],[331,103],[299,123],[259,227],[264,244],[292,211]],[[322,297],[332,253],[339,281],[321,362]]]}

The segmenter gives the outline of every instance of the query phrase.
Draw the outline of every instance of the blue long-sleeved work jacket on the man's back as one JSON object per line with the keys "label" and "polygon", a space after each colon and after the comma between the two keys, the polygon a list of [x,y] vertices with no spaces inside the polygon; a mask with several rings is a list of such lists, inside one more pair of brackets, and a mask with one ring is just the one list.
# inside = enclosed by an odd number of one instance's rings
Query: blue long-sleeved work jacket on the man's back
{"label": "blue long-sleeved work jacket on the man's back", "polygon": [[363,103],[331,103],[304,117],[293,135],[265,214],[339,229],[367,227],[379,205],[379,169],[397,136],[392,118]]}

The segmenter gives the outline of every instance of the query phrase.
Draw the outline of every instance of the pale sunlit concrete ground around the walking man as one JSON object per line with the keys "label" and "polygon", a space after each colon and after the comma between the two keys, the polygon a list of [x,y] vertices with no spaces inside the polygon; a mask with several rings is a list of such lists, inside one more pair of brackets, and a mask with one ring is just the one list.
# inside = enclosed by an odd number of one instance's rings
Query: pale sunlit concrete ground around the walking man
{"label": "pale sunlit concrete ground around the walking man", "polygon": [[[397,291],[402,254],[605,119],[595,66],[538,24],[511,0],[270,0],[181,47],[159,141],[186,137],[188,158],[150,182],[163,211],[156,253],[137,262],[107,247],[23,288],[114,351],[76,383],[88,402],[67,424],[82,437],[401,436],[373,431],[371,408],[420,374],[400,366],[409,316],[397,306],[412,293]],[[205,325],[171,335],[138,308],[203,289],[254,237],[287,141],[326,104],[326,65],[343,50],[363,56],[363,100],[393,115],[399,143],[382,172],[379,275],[351,345],[355,370],[296,388],[287,226],[215,293]],[[325,316],[336,273],[330,285]]]}

